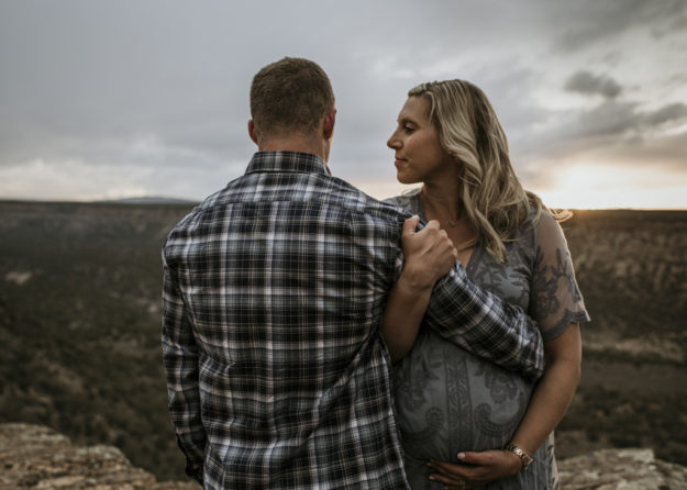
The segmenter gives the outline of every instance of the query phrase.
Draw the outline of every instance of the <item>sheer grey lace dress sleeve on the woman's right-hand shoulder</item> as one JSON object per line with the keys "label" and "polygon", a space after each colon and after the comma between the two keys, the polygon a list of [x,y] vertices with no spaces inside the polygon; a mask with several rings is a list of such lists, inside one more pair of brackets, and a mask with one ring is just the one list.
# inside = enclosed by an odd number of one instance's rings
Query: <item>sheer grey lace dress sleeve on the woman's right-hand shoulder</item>
{"label": "sheer grey lace dress sleeve on the woman's right-hand shoulder", "polygon": [[563,230],[546,212],[542,212],[538,226],[531,288],[530,312],[544,341],[557,337],[570,323],[590,320]]}

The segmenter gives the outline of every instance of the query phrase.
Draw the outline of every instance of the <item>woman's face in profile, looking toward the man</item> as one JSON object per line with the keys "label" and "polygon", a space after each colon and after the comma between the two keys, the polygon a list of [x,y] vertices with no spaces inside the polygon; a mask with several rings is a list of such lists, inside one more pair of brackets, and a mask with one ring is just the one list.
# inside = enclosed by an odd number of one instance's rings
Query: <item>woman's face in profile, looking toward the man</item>
{"label": "woman's face in profile, looking toward the man", "polygon": [[387,142],[395,151],[396,178],[401,183],[455,178],[457,166],[439,142],[439,132],[429,116],[430,102],[409,97],[398,114],[398,126]]}

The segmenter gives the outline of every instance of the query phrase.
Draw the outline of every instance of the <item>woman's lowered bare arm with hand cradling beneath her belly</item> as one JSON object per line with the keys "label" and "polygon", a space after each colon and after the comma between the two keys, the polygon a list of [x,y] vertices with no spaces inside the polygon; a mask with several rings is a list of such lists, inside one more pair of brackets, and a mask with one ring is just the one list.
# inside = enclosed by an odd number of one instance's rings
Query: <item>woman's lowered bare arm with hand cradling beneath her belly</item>
{"label": "woman's lowered bare arm with hand cradling beneath her belly", "polygon": [[[581,336],[579,325],[572,323],[565,331],[544,343],[546,368],[534,389],[512,443],[532,456],[567,411],[581,371]],[[461,464],[430,461],[437,474],[430,478],[448,488],[465,488],[517,474],[522,468],[518,456],[508,450],[465,452],[457,455]],[[465,466],[463,464],[469,464]]]}

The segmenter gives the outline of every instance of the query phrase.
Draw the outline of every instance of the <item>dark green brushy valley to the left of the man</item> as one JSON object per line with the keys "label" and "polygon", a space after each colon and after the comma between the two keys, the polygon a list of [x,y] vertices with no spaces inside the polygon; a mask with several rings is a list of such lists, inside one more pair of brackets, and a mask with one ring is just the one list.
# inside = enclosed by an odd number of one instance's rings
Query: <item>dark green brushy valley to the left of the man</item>
{"label": "dark green brushy valley to the left of the man", "polygon": [[160,248],[189,210],[0,203],[0,421],[184,477],[159,347]]}

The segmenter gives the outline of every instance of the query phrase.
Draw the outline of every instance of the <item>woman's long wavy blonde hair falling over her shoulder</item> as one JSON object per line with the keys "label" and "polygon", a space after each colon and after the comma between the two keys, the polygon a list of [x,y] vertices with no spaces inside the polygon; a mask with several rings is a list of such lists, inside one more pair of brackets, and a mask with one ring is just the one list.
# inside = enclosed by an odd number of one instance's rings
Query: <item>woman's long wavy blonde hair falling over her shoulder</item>
{"label": "woman's long wavy blonde hair falling over her shoulder", "polygon": [[487,96],[465,80],[421,83],[408,97],[430,102],[430,120],[439,131],[442,147],[459,165],[459,209],[477,237],[459,244],[468,248],[480,243],[497,260],[506,261],[506,242],[534,211],[536,223],[542,210],[558,221],[566,211],[549,210],[534,193],[525,191],[510,160],[508,140]]}

